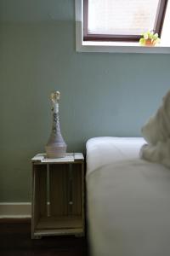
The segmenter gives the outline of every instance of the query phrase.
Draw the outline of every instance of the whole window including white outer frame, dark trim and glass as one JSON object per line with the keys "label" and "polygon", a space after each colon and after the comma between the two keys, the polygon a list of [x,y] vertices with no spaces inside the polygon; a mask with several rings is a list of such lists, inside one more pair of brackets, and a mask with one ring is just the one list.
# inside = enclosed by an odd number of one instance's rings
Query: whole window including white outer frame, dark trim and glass
{"label": "whole window including white outer frame, dark trim and glass", "polygon": [[[124,15],[120,17],[118,13],[111,15],[110,9],[113,9],[113,3],[116,4],[114,11],[117,12],[120,3],[127,2],[131,5],[124,4],[121,8]],[[88,9],[89,3],[90,6],[95,3],[95,8],[93,6],[91,11]],[[106,3],[112,3],[110,9],[106,9]],[[147,3],[147,6],[145,8],[144,5],[142,11],[141,7],[144,3]],[[104,15],[99,13],[99,6],[102,6],[100,11],[105,10]],[[170,54],[170,1],[168,0],[75,0],[75,8],[77,52]],[[130,21],[132,14],[133,22]],[[111,22],[111,20],[116,21]],[[131,26],[127,26],[127,23]],[[161,35],[161,44],[155,47],[141,46],[139,44],[141,33],[152,29],[159,32],[159,36]],[[108,35],[109,38],[106,39]]]}

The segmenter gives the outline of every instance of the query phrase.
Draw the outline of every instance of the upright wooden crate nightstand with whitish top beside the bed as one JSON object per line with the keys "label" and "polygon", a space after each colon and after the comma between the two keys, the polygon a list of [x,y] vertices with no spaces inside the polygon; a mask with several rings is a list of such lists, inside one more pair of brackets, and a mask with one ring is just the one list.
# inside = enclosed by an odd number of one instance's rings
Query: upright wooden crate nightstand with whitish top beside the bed
{"label": "upright wooden crate nightstand with whitish top beside the bed", "polygon": [[84,158],[81,153],[32,161],[31,237],[84,235]]}

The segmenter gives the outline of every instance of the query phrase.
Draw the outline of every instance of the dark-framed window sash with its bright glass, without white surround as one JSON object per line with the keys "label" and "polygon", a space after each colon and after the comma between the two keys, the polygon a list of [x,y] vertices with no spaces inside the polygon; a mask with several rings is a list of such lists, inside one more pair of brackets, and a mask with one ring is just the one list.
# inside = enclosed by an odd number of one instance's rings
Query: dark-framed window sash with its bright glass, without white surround
{"label": "dark-framed window sash with its bright glass, without white surround", "polygon": [[167,0],[83,0],[85,41],[139,41],[142,32],[161,37]]}

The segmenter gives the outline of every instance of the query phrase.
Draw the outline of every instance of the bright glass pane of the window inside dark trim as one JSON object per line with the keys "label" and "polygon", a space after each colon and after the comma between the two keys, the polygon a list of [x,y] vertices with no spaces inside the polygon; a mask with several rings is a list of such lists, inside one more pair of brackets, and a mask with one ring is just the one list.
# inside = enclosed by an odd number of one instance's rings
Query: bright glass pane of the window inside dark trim
{"label": "bright glass pane of the window inside dark trim", "polygon": [[159,0],[88,0],[88,33],[139,35],[153,30]]}

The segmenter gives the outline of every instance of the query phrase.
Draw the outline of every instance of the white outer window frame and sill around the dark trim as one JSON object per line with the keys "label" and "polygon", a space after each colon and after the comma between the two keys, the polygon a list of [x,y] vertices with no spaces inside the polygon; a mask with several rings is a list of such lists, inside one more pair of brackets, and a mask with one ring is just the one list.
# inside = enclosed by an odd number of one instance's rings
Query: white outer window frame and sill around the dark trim
{"label": "white outer window frame and sill around the dark trim", "polygon": [[[83,41],[83,0],[75,0],[75,36],[77,53],[130,53],[170,54],[170,44],[155,47],[141,46],[138,42]],[[170,4],[170,3],[168,3]]]}

